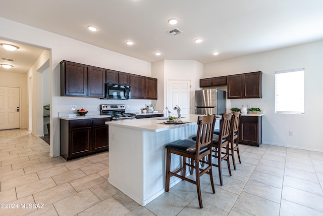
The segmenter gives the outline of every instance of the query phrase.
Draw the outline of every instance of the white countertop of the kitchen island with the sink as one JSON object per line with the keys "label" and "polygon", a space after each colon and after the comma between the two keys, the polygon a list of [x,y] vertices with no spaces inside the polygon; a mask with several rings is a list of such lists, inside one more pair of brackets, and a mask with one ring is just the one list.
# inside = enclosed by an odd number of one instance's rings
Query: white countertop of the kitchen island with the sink
{"label": "white countertop of the kitchen island with the sink", "polygon": [[185,124],[165,124],[163,119],[158,119],[162,117],[121,120],[121,121],[106,121],[105,124],[138,129],[140,131],[161,132],[161,131],[167,131],[169,129],[186,127],[188,125],[197,124],[198,116],[199,115],[183,115],[182,121],[187,122]]}

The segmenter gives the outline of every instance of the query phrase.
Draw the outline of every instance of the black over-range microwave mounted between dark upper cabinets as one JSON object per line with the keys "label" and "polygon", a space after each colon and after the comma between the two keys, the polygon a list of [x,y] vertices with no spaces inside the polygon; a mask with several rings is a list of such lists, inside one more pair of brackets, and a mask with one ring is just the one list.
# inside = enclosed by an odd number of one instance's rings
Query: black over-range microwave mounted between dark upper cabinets
{"label": "black over-range microwave mounted between dark upper cabinets", "polygon": [[126,100],[130,99],[130,86],[105,83],[104,98],[101,99],[119,99]]}

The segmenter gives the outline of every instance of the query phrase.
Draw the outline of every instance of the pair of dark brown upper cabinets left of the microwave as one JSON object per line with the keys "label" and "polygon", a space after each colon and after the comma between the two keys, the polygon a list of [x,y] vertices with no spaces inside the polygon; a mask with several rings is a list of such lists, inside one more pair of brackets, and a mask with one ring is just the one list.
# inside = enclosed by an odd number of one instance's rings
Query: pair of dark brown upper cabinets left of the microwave
{"label": "pair of dark brown upper cabinets left of the microwave", "polygon": [[105,69],[61,62],[61,96],[104,97]]}

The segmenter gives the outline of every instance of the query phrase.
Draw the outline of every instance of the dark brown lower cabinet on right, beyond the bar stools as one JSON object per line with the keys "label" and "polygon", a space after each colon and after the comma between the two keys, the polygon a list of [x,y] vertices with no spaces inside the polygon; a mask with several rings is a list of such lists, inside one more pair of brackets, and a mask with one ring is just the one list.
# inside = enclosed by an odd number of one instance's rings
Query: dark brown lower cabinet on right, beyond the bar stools
{"label": "dark brown lower cabinet on right, beyond the bar stools", "polygon": [[262,143],[262,116],[241,116],[239,143],[260,146]]}

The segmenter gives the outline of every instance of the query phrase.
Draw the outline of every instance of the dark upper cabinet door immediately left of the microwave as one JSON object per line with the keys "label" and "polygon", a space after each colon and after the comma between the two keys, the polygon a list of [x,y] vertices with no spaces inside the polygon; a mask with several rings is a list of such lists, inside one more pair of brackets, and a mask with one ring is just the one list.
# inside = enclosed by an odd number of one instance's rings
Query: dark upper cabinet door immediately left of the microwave
{"label": "dark upper cabinet door immediately left of the microwave", "polygon": [[105,69],[98,67],[88,67],[88,96],[104,97]]}

